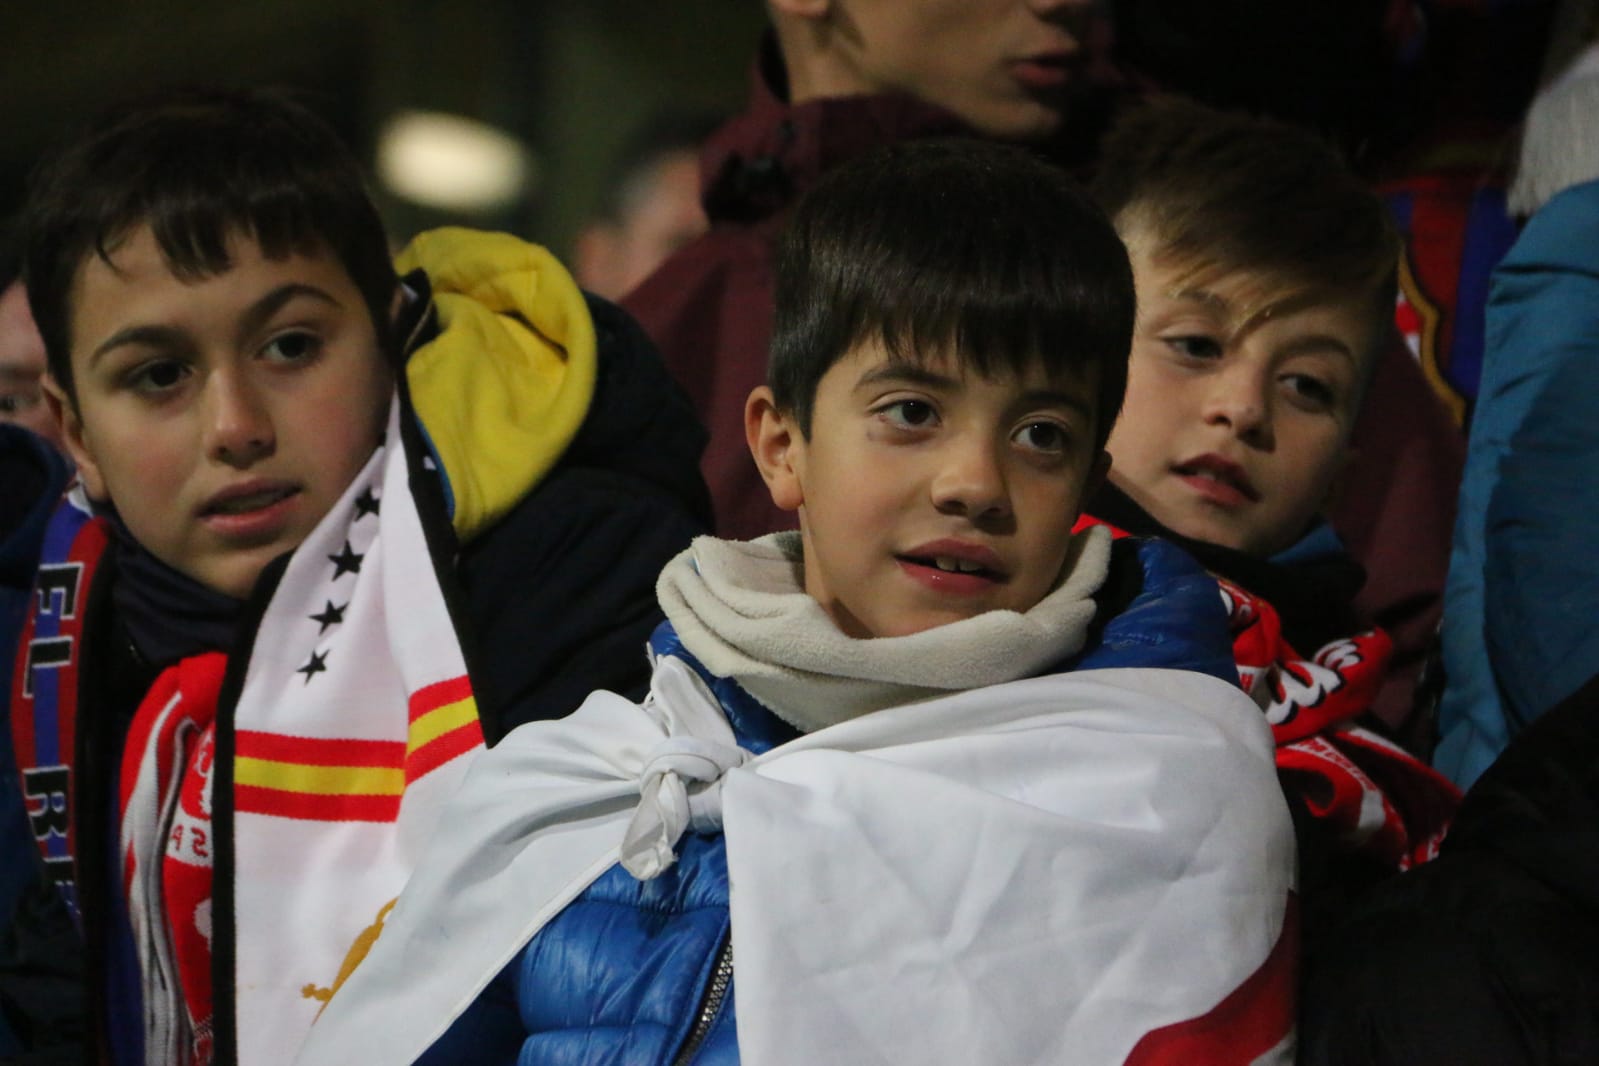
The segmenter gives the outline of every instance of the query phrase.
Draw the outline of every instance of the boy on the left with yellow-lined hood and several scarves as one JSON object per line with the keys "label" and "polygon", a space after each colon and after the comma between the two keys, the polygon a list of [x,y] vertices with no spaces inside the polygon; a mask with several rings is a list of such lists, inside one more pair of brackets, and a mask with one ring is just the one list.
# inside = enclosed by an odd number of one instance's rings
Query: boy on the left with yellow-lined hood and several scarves
{"label": "boy on the left with yellow-lined hood and several scarves", "polygon": [[699,433],[542,249],[427,233],[401,281],[360,166],[280,94],[117,109],[26,217],[80,484],[13,727],[85,1042],[288,1061],[484,742],[644,682]]}

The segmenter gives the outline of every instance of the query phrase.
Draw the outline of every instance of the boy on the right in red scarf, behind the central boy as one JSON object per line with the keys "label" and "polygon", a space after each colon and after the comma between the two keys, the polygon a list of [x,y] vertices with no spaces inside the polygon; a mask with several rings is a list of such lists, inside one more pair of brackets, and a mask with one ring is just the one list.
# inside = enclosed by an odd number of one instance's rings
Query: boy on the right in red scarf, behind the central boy
{"label": "boy on the right in red scarf, behind the central boy", "polygon": [[1138,324],[1110,484],[1087,510],[1222,579],[1318,914],[1433,855],[1458,798],[1354,724],[1391,644],[1356,619],[1361,569],[1321,518],[1393,313],[1398,238],[1314,136],[1175,99],[1118,123],[1095,192],[1129,248]]}

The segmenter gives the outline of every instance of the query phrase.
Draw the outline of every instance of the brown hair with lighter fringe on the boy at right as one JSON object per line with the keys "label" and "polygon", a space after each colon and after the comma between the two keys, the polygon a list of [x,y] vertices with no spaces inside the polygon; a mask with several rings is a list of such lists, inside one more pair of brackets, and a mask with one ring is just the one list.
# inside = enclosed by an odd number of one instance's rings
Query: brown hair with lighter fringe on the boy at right
{"label": "brown hair with lighter fringe on the boy at right", "polygon": [[1196,280],[1247,270],[1284,294],[1366,296],[1374,347],[1391,328],[1401,245],[1388,208],[1310,131],[1150,101],[1107,134],[1092,192],[1122,237],[1146,235]]}

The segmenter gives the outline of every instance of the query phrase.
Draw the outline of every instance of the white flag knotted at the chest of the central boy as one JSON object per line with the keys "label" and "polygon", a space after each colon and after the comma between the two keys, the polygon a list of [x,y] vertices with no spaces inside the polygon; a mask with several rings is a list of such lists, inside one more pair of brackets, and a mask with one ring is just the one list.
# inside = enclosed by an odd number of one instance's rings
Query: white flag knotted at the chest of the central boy
{"label": "white flag knotted at the chest of the central boy", "polygon": [[413,1061],[624,837],[640,869],[718,818],[745,1063],[1290,1061],[1294,836],[1236,687],[1084,671],[731,745],[676,658],[515,730],[299,1061]]}

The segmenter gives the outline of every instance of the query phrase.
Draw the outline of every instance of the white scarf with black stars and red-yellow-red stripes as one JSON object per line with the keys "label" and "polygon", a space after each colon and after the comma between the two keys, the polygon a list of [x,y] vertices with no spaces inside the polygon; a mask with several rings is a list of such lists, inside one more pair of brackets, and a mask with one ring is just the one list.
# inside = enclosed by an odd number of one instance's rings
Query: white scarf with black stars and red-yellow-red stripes
{"label": "white scarf with black stars and red-yellow-red stripes", "polygon": [[241,1066],[293,1060],[483,751],[398,419],[289,559],[233,713]]}

